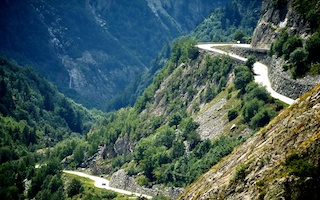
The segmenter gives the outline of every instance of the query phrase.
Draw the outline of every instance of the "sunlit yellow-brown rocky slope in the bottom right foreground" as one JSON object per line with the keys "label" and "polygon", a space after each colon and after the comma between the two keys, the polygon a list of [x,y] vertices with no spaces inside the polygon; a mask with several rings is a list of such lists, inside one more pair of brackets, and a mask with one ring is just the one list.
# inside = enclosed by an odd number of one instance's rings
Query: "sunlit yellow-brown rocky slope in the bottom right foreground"
{"label": "sunlit yellow-brown rocky slope in the bottom right foreground", "polygon": [[204,174],[180,199],[319,198],[320,86]]}

